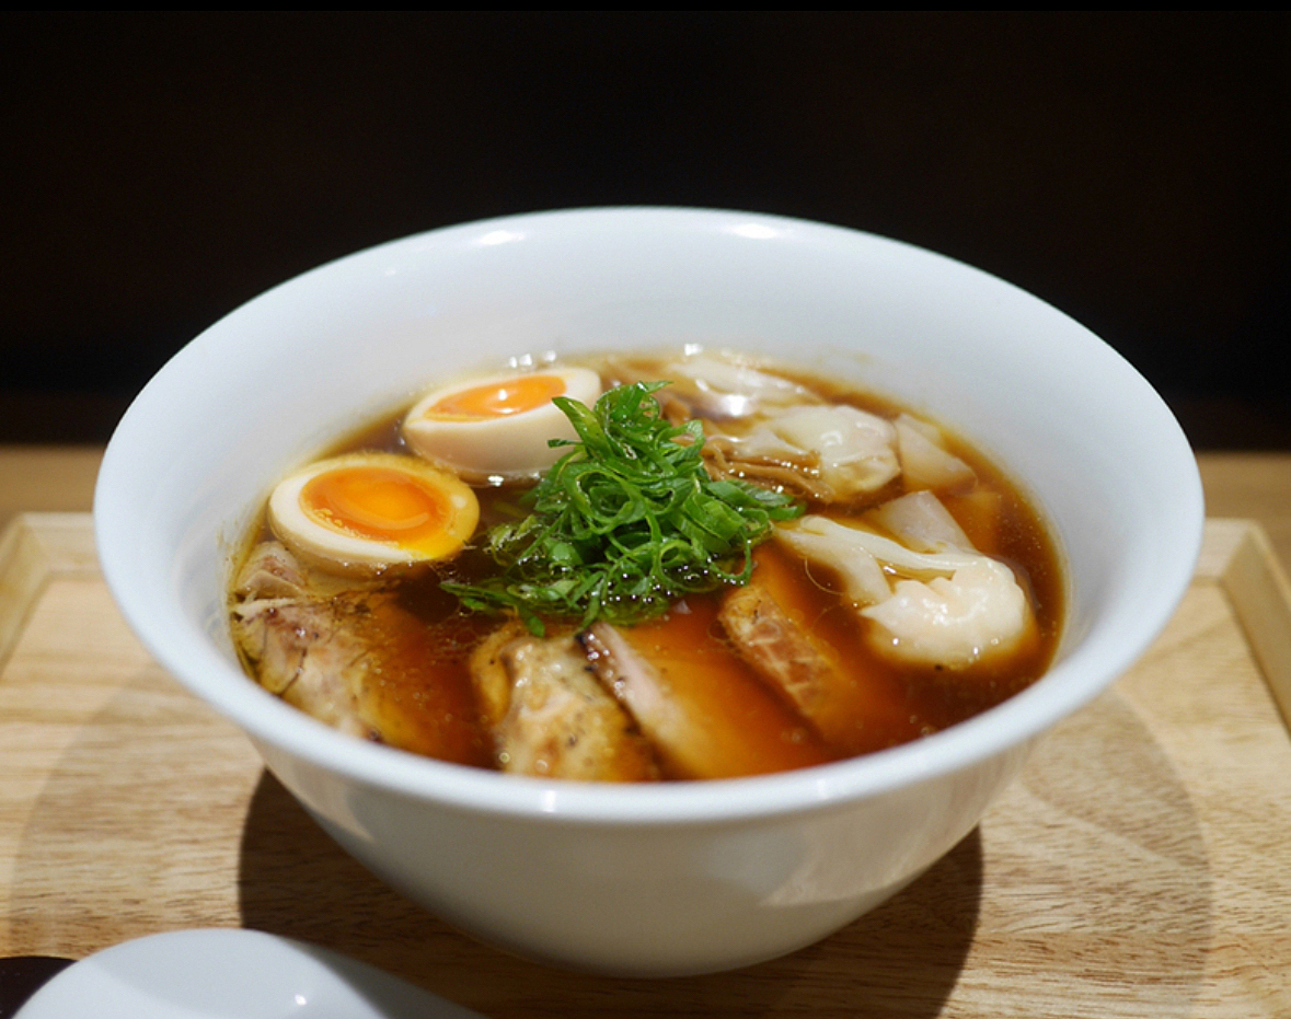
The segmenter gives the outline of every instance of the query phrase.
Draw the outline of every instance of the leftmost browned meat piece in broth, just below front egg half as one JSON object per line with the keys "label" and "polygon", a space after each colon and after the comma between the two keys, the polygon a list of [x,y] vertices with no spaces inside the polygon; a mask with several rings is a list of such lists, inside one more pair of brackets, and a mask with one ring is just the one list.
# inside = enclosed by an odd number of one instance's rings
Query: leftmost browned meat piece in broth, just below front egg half
{"label": "leftmost browned meat piece in broth, just below front egg half", "polygon": [[270,693],[363,739],[488,764],[465,676],[444,681],[453,671],[453,633],[429,628],[398,595],[341,589],[265,542],[239,573],[234,596],[234,641]]}

